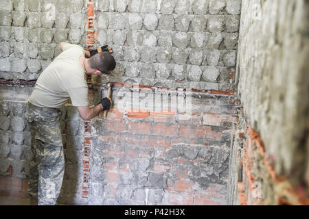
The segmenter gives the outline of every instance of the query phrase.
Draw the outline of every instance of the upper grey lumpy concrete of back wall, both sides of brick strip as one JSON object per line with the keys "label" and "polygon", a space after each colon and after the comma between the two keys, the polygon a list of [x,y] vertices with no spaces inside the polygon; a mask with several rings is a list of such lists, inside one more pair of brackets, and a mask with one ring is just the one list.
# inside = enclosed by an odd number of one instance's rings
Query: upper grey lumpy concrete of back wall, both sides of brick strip
{"label": "upper grey lumpy concrete of back wall, both sides of brick strip", "polygon": [[[240,0],[96,0],[94,11],[95,45],[117,60],[95,82],[234,90]],[[0,29],[0,77],[37,79],[60,42],[86,48],[87,1],[1,1]]]}

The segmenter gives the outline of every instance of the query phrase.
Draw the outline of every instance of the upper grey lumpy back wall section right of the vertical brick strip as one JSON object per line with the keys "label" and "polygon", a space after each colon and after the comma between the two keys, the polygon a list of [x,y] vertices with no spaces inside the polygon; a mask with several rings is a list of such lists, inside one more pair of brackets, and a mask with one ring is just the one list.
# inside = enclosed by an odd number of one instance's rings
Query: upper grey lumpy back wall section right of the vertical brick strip
{"label": "upper grey lumpy back wall section right of the vertical brick strip", "polygon": [[117,70],[97,83],[234,90],[240,1],[95,1],[95,42]]}

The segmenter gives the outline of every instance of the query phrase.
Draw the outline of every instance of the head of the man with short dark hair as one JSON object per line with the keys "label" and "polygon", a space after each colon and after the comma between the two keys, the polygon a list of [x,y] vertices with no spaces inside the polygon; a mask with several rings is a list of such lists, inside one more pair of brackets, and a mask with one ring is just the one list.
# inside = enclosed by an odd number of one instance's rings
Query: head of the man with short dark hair
{"label": "head of the man with short dark hair", "polygon": [[91,68],[100,70],[100,72],[107,74],[110,70],[114,70],[116,61],[109,52],[97,53],[90,57],[89,64]]}

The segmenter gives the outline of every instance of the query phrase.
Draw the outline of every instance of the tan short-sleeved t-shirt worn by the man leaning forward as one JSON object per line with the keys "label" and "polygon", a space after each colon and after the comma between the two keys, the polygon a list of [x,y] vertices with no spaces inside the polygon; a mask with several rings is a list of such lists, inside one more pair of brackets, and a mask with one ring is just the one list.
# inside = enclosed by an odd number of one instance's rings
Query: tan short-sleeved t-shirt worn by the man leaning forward
{"label": "tan short-sleeved t-shirt worn by the man leaning forward", "polygon": [[79,62],[84,49],[76,44],[65,44],[62,49],[38,77],[28,99],[33,105],[60,108],[69,98],[74,106],[88,105],[86,72]]}

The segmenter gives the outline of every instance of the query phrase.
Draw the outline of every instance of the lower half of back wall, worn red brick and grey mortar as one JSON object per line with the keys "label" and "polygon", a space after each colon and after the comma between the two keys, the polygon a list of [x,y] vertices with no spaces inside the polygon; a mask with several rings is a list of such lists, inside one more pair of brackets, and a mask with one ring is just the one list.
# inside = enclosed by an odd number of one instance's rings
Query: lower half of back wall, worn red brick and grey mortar
{"label": "lower half of back wall, worn red brick and grey mortar", "polygon": [[[28,154],[30,136],[23,120],[25,100],[31,87],[5,87],[1,101],[1,175],[0,194],[27,198]],[[24,96],[12,96],[25,92]],[[90,90],[91,103],[106,88]],[[65,177],[59,203],[72,205],[225,205],[229,175],[229,150],[233,142],[236,120],[231,114],[233,94],[208,92],[186,93],[177,98],[186,103],[192,97],[190,114],[182,107],[154,110],[128,104],[131,94],[146,98],[172,96],[174,90],[125,88],[113,89],[115,103],[107,118],[102,114],[90,123],[87,134],[76,107],[62,107],[62,142],[65,147]],[[28,94],[27,94],[28,93]],[[139,110],[137,110],[139,109]],[[19,125],[16,125],[16,121]],[[21,120],[24,123],[21,123]],[[16,133],[23,138],[15,140]],[[16,142],[18,141],[18,142]],[[89,159],[85,162],[85,145]],[[84,170],[89,180],[84,183]],[[19,185],[15,185],[18,184]],[[84,187],[87,185],[87,188]]]}

